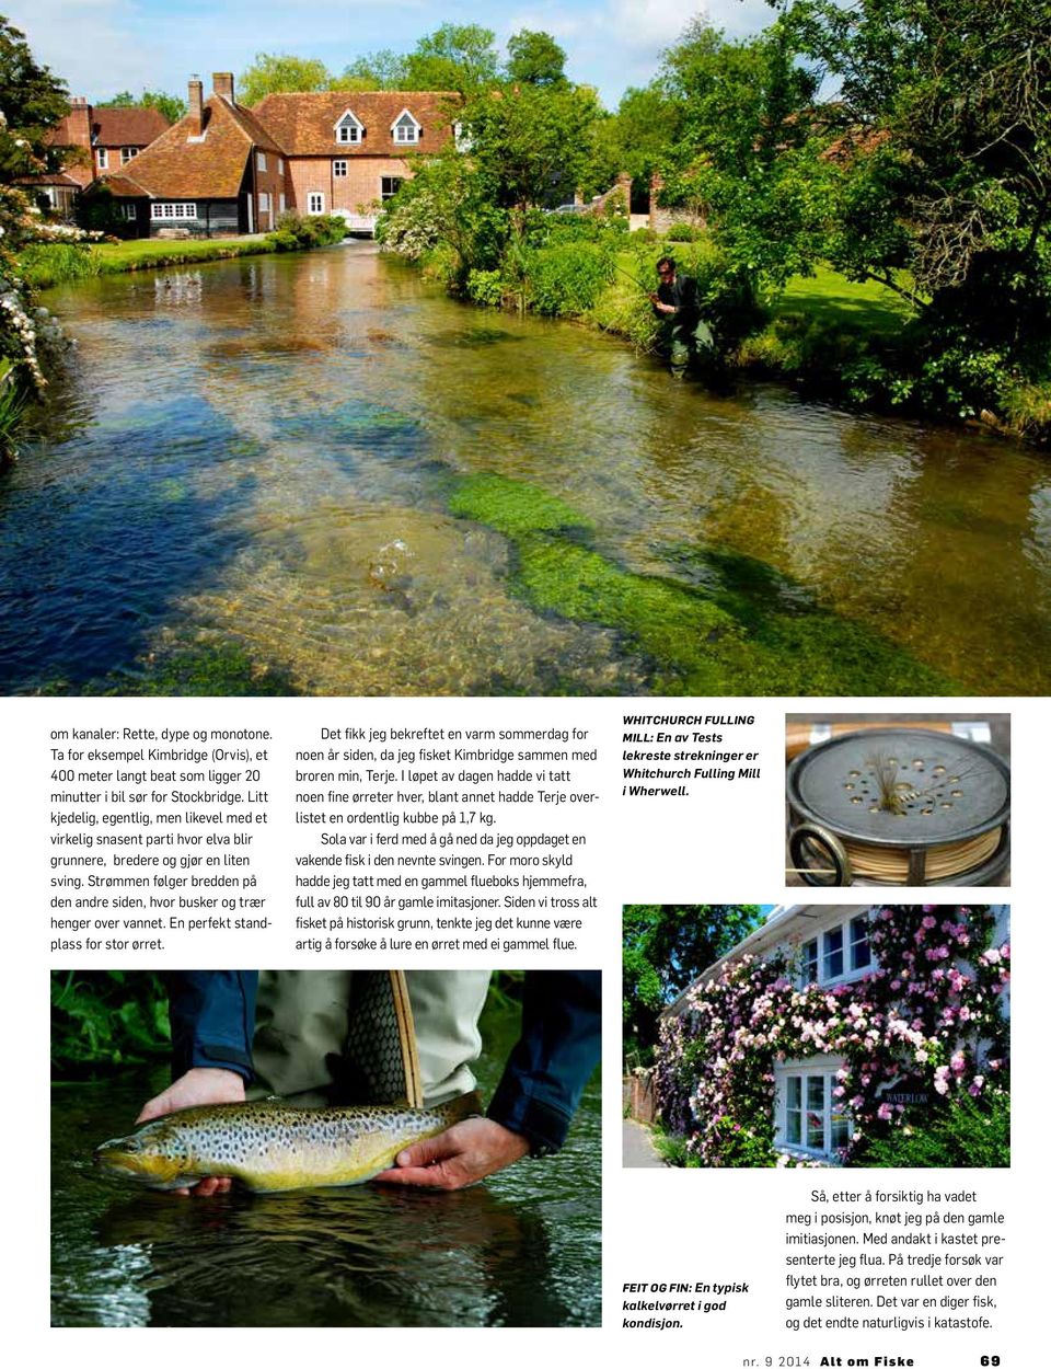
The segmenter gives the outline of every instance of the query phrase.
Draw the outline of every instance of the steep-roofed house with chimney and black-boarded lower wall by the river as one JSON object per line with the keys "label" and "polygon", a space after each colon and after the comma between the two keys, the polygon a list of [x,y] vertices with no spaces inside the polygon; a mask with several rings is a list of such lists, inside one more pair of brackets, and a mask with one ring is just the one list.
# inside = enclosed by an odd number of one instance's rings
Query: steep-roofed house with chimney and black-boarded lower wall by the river
{"label": "steep-roofed house with chimney and black-boarded lower wall by the river", "polygon": [[283,148],[234,99],[229,71],[189,84],[189,111],[126,171],[101,177],[140,237],[265,233],[286,207]]}

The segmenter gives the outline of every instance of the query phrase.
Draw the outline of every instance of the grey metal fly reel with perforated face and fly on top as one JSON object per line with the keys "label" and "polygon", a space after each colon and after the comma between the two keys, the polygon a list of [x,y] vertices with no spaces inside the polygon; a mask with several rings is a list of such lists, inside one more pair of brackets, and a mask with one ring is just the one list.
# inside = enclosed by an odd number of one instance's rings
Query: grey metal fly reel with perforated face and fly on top
{"label": "grey metal fly reel with perforated face and fly on top", "polygon": [[995,884],[1011,776],[995,752],[903,727],[848,732],[788,767],[788,857],[803,883]]}

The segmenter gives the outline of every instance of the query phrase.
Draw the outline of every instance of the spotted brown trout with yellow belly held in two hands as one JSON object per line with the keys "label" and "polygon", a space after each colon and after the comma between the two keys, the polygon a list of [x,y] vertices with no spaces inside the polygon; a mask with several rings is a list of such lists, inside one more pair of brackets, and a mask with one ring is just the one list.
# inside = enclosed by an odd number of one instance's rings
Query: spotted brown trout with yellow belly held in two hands
{"label": "spotted brown trout with yellow belly held in two hands", "polygon": [[209,1176],[230,1176],[255,1192],[363,1184],[390,1169],[405,1146],[478,1110],[476,1094],[408,1109],[212,1103],[107,1140],[94,1162],[149,1188],[182,1188]]}

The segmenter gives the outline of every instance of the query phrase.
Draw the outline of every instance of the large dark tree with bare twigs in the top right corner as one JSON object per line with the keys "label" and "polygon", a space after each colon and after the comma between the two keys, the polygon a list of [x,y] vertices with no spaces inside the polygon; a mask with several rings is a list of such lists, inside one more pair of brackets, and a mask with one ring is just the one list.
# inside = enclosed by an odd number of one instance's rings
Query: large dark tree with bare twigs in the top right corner
{"label": "large dark tree with bare twigs in the top right corner", "polygon": [[1047,370],[1048,0],[799,0],[786,22],[838,82],[829,253],[902,287],[928,326]]}

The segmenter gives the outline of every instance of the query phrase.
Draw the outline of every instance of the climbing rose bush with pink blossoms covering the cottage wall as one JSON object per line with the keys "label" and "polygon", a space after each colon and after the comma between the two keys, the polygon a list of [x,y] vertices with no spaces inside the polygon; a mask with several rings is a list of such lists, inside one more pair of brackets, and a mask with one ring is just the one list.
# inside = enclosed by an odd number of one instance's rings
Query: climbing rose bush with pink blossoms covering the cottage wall
{"label": "climbing rose bush with pink blossoms covering the cottage wall", "polygon": [[688,1135],[688,1153],[703,1165],[792,1164],[773,1149],[775,1066],[839,1055],[833,1092],[854,1120],[839,1153],[848,1164],[862,1138],[903,1125],[905,1105],[883,1098],[903,1076],[944,1103],[1006,1092],[1000,995],[1011,949],[992,945],[994,925],[987,906],[877,908],[873,969],[846,984],[799,988],[799,967],[783,954],[734,961],[661,1024],[661,1121]]}

